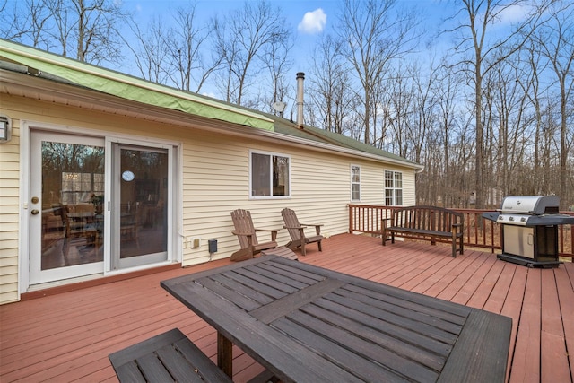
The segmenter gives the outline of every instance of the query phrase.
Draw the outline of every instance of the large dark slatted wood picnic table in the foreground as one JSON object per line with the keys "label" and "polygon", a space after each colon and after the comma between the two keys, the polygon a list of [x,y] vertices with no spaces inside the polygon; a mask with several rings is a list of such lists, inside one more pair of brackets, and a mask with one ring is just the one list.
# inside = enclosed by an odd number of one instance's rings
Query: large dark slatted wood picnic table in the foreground
{"label": "large dark slatted wood picnic table in the foreground", "polygon": [[511,319],[283,257],[161,282],[283,382],[504,381]]}

